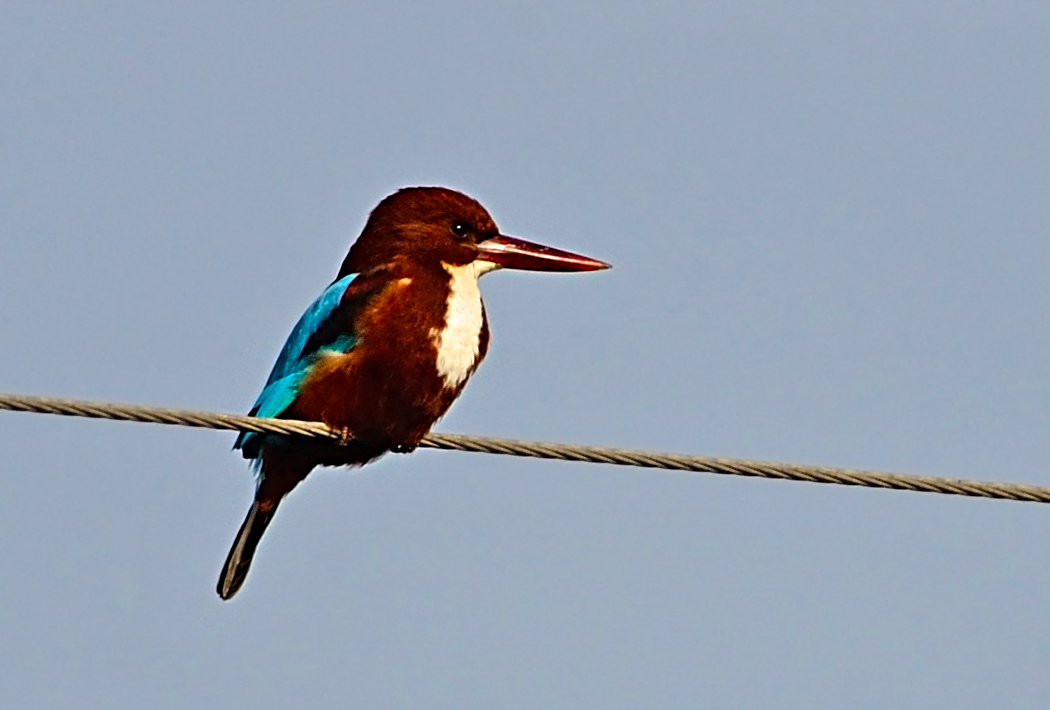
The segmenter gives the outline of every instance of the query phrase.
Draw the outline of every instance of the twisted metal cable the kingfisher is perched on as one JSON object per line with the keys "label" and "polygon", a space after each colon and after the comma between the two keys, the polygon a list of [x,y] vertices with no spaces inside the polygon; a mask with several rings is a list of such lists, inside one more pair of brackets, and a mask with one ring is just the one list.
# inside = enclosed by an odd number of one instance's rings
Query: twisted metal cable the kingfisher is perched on
{"label": "twisted metal cable the kingfisher is perched on", "polygon": [[[112,404],[76,399],[51,399],[49,397],[0,394],[0,410],[238,432],[257,432],[262,434],[344,439],[342,432],[334,431],[326,424],[316,421],[265,419],[235,414],[171,410],[134,404]],[[519,439],[463,436],[460,434],[429,434],[424,437],[420,445],[427,448],[474,452],[479,454],[501,454],[504,456],[556,459],[560,461],[608,463],[620,466],[640,466],[644,468],[663,468],[666,471],[689,473],[750,476],[785,481],[834,483],[870,488],[889,488],[894,490],[1050,503],[1050,487],[1020,483],[993,483],[989,481],[971,481],[934,476],[887,474],[875,471],[803,466],[741,459],[686,456],[681,454],[657,454],[627,448],[575,446],[539,441],[521,441]]]}

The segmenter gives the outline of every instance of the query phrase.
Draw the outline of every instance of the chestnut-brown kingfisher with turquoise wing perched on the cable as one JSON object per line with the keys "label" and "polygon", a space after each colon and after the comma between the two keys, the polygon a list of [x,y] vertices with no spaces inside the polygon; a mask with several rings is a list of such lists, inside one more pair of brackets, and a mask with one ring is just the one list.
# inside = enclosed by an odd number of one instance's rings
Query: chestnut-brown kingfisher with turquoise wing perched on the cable
{"label": "chestnut-brown kingfisher with turquoise wing perched on the cable", "polygon": [[463,392],[488,352],[478,279],[497,269],[596,271],[610,265],[502,234],[476,200],[443,187],[384,197],[335,280],[288,336],[249,416],[320,421],[307,439],[243,432],[256,477],[216,591],[242,588],[281,501],[317,466],[360,466],[407,453]]}

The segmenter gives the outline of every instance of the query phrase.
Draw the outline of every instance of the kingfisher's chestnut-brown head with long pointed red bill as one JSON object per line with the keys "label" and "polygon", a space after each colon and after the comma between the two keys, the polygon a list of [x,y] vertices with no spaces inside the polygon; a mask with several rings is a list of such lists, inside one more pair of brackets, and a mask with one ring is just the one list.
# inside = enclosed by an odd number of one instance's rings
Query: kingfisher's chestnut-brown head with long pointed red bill
{"label": "kingfisher's chestnut-brown head with long pointed red bill", "polygon": [[343,260],[340,275],[406,259],[423,266],[596,271],[604,262],[500,233],[484,207],[443,187],[407,187],[384,199]]}

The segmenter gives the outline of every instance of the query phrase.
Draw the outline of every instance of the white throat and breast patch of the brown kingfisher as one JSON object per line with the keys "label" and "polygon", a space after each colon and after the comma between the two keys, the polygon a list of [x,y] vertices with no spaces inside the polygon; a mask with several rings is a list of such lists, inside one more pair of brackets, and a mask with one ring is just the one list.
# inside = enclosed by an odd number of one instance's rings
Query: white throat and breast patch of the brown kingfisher
{"label": "white throat and breast patch of the brown kingfisher", "polygon": [[494,271],[498,264],[477,259],[465,266],[442,264],[453,277],[445,310],[445,327],[433,329],[430,339],[438,349],[438,374],[445,389],[463,383],[478,361],[481,348],[481,325],[484,318],[478,278]]}

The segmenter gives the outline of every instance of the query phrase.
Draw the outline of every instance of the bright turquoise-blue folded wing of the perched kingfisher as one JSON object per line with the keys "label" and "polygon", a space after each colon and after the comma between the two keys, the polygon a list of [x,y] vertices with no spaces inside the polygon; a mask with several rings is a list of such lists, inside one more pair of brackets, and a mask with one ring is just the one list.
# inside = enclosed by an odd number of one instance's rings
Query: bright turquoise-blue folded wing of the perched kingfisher
{"label": "bright turquoise-blue folded wing of the perched kingfisher", "polygon": [[[277,362],[273,366],[262,393],[252,406],[251,416],[279,416],[299,396],[299,387],[317,355],[326,352],[349,353],[354,347],[356,338],[350,333],[339,333],[328,341],[318,341],[314,336],[342,302],[343,294],[356,277],[357,274],[349,274],[328,287],[295,323],[277,356]],[[242,432],[233,447],[243,448],[246,458],[256,458],[262,443],[260,436],[253,432]]]}

